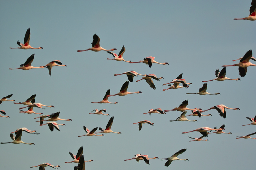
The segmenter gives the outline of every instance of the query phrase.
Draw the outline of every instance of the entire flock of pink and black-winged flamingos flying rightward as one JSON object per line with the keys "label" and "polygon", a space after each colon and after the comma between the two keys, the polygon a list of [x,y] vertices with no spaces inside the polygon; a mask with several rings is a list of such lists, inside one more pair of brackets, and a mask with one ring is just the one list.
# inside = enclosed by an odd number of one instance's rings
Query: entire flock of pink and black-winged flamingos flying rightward
{"label": "entire flock of pink and black-winged flamingos flying rightward", "polygon": [[[239,19],[234,19],[234,20],[251,20],[251,21],[254,21],[256,20],[256,0],[252,0],[251,2],[251,7],[250,7],[250,15],[246,18],[239,18]],[[29,40],[30,40],[30,29],[27,30],[26,34],[25,34],[25,38],[24,38],[24,43],[20,43],[19,41],[17,41],[17,44],[20,46],[20,47],[17,47],[17,48],[20,48],[20,49],[43,49],[43,47],[37,47],[37,48],[34,48],[34,47],[31,47],[30,44],[29,44]],[[116,48],[112,48],[112,49],[104,49],[100,46],[100,38],[94,34],[93,36],[93,42],[92,42],[92,48],[88,48],[88,49],[85,49],[85,50],[77,50],[77,52],[82,52],[82,51],[87,51],[87,50],[92,50],[92,51],[101,51],[101,50],[105,50],[107,51],[109,54],[111,54],[114,58],[107,58],[109,60],[117,60],[117,61],[125,61],[125,62],[129,62],[129,63],[145,63],[147,64],[149,67],[152,67],[152,64],[153,63],[158,63],[158,64],[163,64],[163,65],[166,65],[168,64],[167,62],[165,63],[159,63],[157,61],[155,61],[155,57],[146,57],[144,58],[143,60],[140,60],[138,62],[131,62],[131,61],[126,61],[124,60],[123,58],[123,53],[125,52],[125,47],[123,46],[121,51],[119,52],[119,54],[115,54],[113,52],[110,52],[110,51],[114,51],[114,50],[117,50]],[[63,65],[61,63],[61,61],[59,60],[54,60],[54,61],[51,61],[49,62],[48,64],[44,65],[44,66],[39,66],[39,67],[34,67],[34,66],[31,66],[32,62],[33,62],[33,59],[34,59],[34,55],[35,54],[32,54],[30,57],[27,58],[27,60],[25,61],[24,64],[21,64],[19,68],[9,68],[9,69],[22,69],[22,70],[29,70],[29,69],[32,69],[32,68],[48,68],[49,70],[49,75],[51,76],[51,71],[52,71],[52,67],[53,66],[67,66],[67,65]],[[217,81],[224,81],[224,80],[240,80],[239,78],[236,78],[236,79],[231,79],[231,78],[227,78],[225,75],[226,75],[226,67],[229,67],[229,66],[238,66],[238,70],[239,70],[239,75],[241,77],[244,77],[246,75],[246,72],[247,72],[247,67],[248,66],[256,66],[255,64],[252,64],[250,62],[250,59],[256,61],[256,59],[254,57],[252,57],[252,50],[248,50],[245,55],[240,59],[240,62],[238,64],[233,64],[233,65],[223,65],[221,71],[219,69],[216,69],[215,71],[215,75],[216,75],[216,78],[212,79],[212,80],[208,80],[208,81],[213,81],[213,80],[217,80]],[[236,60],[239,60],[239,59],[236,59]],[[236,60],[233,60],[233,61],[236,61]],[[117,75],[122,75],[122,74],[126,74],[127,77],[128,77],[128,81],[124,82],[124,84],[122,85],[121,89],[120,89],[120,92],[117,93],[117,94],[113,94],[113,95],[110,95],[110,89],[107,90],[105,96],[103,97],[103,100],[102,101],[99,101],[99,102],[92,102],[92,103],[113,103],[113,104],[118,104],[117,102],[109,102],[108,101],[108,98],[111,97],[111,96],[125,96],[127,94],[133,94],[133,93],[142,93],[140,91],[138,92],[128,92],[127,89],[128,89],[128,85],[129,85],[129,82],[132,82],[133,81],[133,78],[134,76],[138,76],[138,75],[141,75],[143,76],[140,80],[145,80],[149,86],[153,89],[156,89],[154,83],[153,83],[153,80],[157,80],[159,81],[159,79],[162,79],[163,77],[157,77],[156,75],[154,74],[139,74],[135,71],[127,71],[127,72],[124,72],[124,73],[121,73],[121,74],[115,74],[114,76],[117,76]],[[140,81],[140,80],[137,80],[136,82]],[[208,81],[203,81],[203,82],[208,82]],[[168,89],[177,89],[177,88],[188,88],[190,84],[192,83],[186,83],[185,79],[182,79],[182,73],[176,78],[174,79],[173,81],[169,82],[169,83],[165,83],[163,85],[167,85],[170,86],[169,88],[167,89],[163,89],[163,91],[165,90],[168,90]],[[206,92],[207,90],[207,83],[204,83],[203,86],[201,88],[199,88],[199,92],[198,93],[186,93],[186,94],[199,94],[199,95],[218,95],[220,93],[208,93]],[[2,102],[4,101],[15,101],[15,100],[8,100],[8,98],[11,98],[12,97],[12,94],[11,95],[8,95],[6,97],[3,97],[2,99],[0,99],[0,104],[2,104]],[[51,115],[43,115],[42,113],[35,113],[33,111],[33,108],[34,107],[37,107],[37,108],[42,108],[42,107],[54,107],[54,106],[46,106],[46,105],[43,105],[41,103],[35,103],[35,97],[36,97],[36,94],[32,95],[31,97],[29,97],[25,102],[19,102],[19,103],[14,103],[14,104],[23,104],[23,105],[27,105],[26,107],[21,107],[19,108],[20,109],[20,113],[27,113],[27,114],[39,114],[41,115],[40,117],[37,117],[37,118],[40,118],[39,121],[36,121],[36,122],[39,122],[40,123],[40,126],[43,126],[43,125],[48,125],[49,129],[51,131],[55,129],[57,130],[60,130],[59,129],[59,126],[65,126],[65,124],[57,124],[55,121],[58,121],[58,120],[63,120],[63,121],[72,121],[71,119],[60,119],[59,118],[59,114],[60,112],[57,112],[57,113],[54,113],[54,114],[51,114]],[[184,100],[179,107],[175,107],[174,109],[171,109],[171,110],[164,110],[162,111],[162,109],[158,108],[158,109],[151,109],[149,110],[149,112],[147,113],[144,113],[144,114],[152,114],[152,113],[158,113],[158,114],[166,114],[166,112],[170,112],[170,111],[180,111],[182,112],[181,115],[176,119],[176,120],[171,120],[170,122],[173,122],[173,121],[191,121],[191,122],[195,122],[197,120],[188,120],[186,117],[187,116],[196,116],[196,117],[199,117],[201,118],[201,116],[211,116],[211,114],[208,114],[208,115],[202,115],[203,112],[206,112],[208,110],[211,110],[211,109],[216,109],[219,113],[219,115],[223,118],[226,118],[226,109],[232,109],[232,110],[240,110],[239,108],[228,108],[226,107],[225,105],[217,105],[217,106],[213,106],[211,107],[210,109],[207,109],[207,110],[202,110],[200,108],[195,108],[195,109],[189,109],[187,108],[187,105],[188,105],[188,100]],[[27,111],[23,111],[21,109],[24,109],[24,108],[27,108],[28,107],[28,110]],[[42,109],[45,109],[45,108],[42,108]],[[190,115],[186,115],[187,113],[187,110],[191,110],[191,114]],[[95,111],[95,112],[94,112]],[[94,113],[92,113],[94,112]],[[93,110],[91,113],[89,114],[97,114],[97,115],[107,115],[109,116],[109,114],[104,114],[103,112],[106,112],[106,109],[103,109],[103,110]],[[3,115],[6,115],[5,111],[4,110],[1,110],[0,113],[2,113]],[[9,118],[9,116],[2,116],[0,115],[0,117],[6,117],[6,118]],[[37,119],[35,118],[35,119]],[[44,120],[44,118],[47,118]],[[254,118],[249,118],[247,117],[247,119],[249,119],[252,123],[248,124],[248,125],[256,125],[256,116]],[[44,121],[49,121],[47,122],[46,124],[43,124]],[[111,130],[111,126],[113,124],[113,121],[114,121],[114,117],[112,116],[110,118],[110,120],[108,121],[107,125],[106,125],[106,128],[105,129],[102,129],[101,127],[99,127],[99,132],[96,132],[96,130],[98,128],[93,128],[91,131],[84,126],[84,130],[86,132],[86,134],[84,135],[80,135],[80,136],[93,136],[93,135],[96,135],[96,136],[104,136],[104,134],[100,134],[98,135],[97,133],[110,133],[110,132],[113,132],[113,133],[118,133],[118,134],[121,134],[121,132],[114,132]],[[142,128],[142,124],[149,124],[149,125],[152,125],[154,126],[154,123],[151,123],[150,121],[147,121],[147,120],[144,120],[144,121],[140,121],[140,122],[137,122],[137,123],[134,123],[134,124],[138,124],[139,125],[139,130],[141,130]],[[246,125],[243,125],[243,126],[246,126]],[[199,138],[196,138],[196,137],[190,137],[194,140],[190,140],[190,141],[201,141],[201,140],[205,140],[205,141],[208,141],[208,139],[203,139],[203,137],[205,136],[208,136],[208,134],[210,134],[208,131],[214,131],[214,132],[211,132],[211,133],[217,133],[217,134],[221,134],[221,133],[226,133],[226,132],[223,132],[222,130],[225,130],[225,125],[222,125],[220,128],[217,128],[217,127],[214,127],[214,128],[209,128],[209,127],[202,127],[202,128],[197,128],[195,130],[192,130],[192,131],[188,131],[188,132],[182,132],[182,133],[189,133],[189,132],[193,132],[193,131],[198,131],[202,134],[201,137]],[[14,132],[11,132],[10,133],[10,137],[12,138],[13,141],[11,142],[1,142],[1,144],[5,144],[5,143],[14,143],[14,144],[19,144],[19,143],[24,143],[24,144],[29,144],[29,145],[33,145],[34,143],[25,143],[21,140],[21,136],[22,136],[22,132],[25,131],[27,133],[33,133],[33,134],[39,134],[39,133],[36,133],[35,130],[28,130],[27,128],[18,128],[16,131]],[[16,136],[13,135],[13,133],[15,133]],[[230,134],[231,132],[228,132],[228,134]],[[239,138],[252,138],[250,137],[251,135],[254,135],[256,134],[256,132],[254,133],[251,133],[251,134],[247,134],[245,136],[237,136],[236,139],[239,139]],[[78,137],[80,137],[78,136]],[[252,139],[256,139],[255,138],[252,138]],[[188,159],[179,159],[177,158],[178,155],[182,154],[183,152],[185,152],[187,149],[181,149],[179,150],[178,152],[174,153],[171,157],[169,158],[163,158],[163,159],[160,159],[160,160],[167,160],[167,162],[165,163],[165,166],[169,166],[171,164],[172,161],[174,160],[188,160]],[[84,157],[83,157],[83,146],[81,146],[79,149],[78,149],[78,152],[76,155],[72,154],[71,152],[69,152],[70,156],[72,157],[73,161],[70,161],[70,162],[64,162],[64,163],[71,163],[71,162],[74,162],[74,163],[78,163],[78,166],[75,166],[74,169],[75,170],[84,170],[85,169],[85,162],[90,162],[90,161],[93,161],[92,159],[91,160],[88,160],[88,161],[85,161],[84,160]],[[135,159],[137,162],[139,162],[140,160],[144,160],[146,162],[146,164],[149,164],[149,159],[158,159],[158,157],[153,157],[153,158],[149,158],[148,155],[142,155],[142,154],[136,154],[135,157],[131,158],[131,159],[126,159],[125,161],[127,160],[132,160],[132,159]],[[51,165],[49,163],[43,163],[43,164],[40,164],[38,165],[39,166],[39,170],[44,170],[46,166],[50,166],[52,168],[55,168],[55,167],[60,167],[59,165],[58,166],[55,166],[55,165]],[[32,166],[32,167],[38,167],[38,166]],[[32,168],[31,167],[31,168]],[[55,168],[57,169],[57,168]]]}

